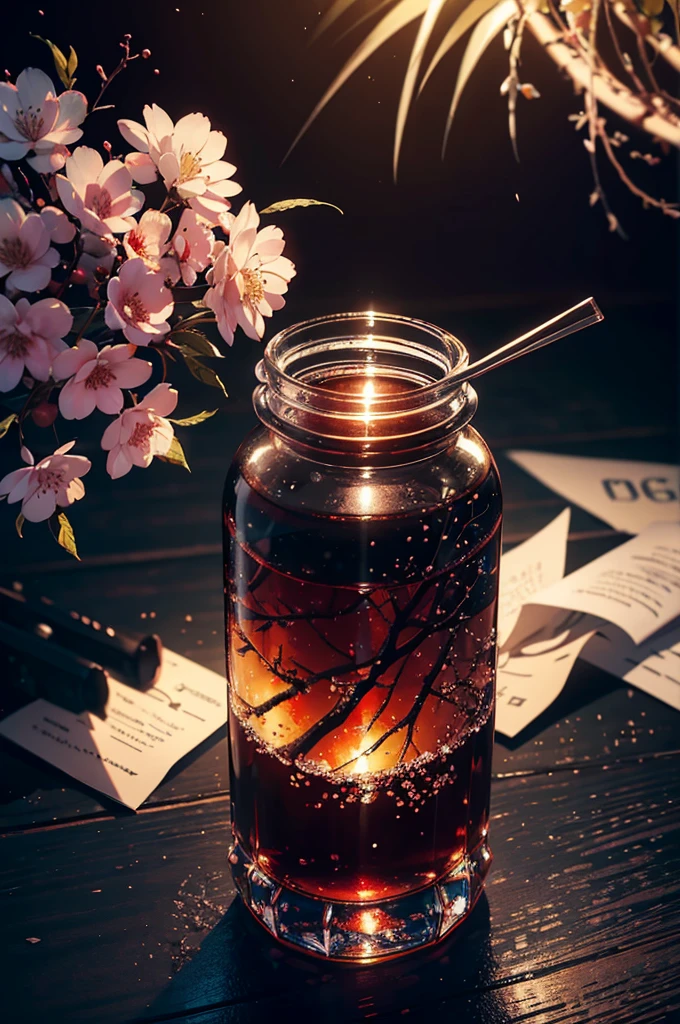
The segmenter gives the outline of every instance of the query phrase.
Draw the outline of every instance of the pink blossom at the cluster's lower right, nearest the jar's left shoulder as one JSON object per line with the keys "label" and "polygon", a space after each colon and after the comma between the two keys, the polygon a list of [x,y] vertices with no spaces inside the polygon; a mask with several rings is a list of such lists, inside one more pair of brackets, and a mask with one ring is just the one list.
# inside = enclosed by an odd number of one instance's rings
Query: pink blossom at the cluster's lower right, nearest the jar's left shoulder
{"label": "pink blossom at the cluster's lower right, nearest the jar's left shoulder", "polygon": [[133,466],[150,466],[154,456],[167,453],[174,430],[166,417],[176,404],[175,389],[169,384],[157,384],[138,406],[124,410],[109,424],[101,447],[109,452],[107,472],[114,480],[125,476]]}

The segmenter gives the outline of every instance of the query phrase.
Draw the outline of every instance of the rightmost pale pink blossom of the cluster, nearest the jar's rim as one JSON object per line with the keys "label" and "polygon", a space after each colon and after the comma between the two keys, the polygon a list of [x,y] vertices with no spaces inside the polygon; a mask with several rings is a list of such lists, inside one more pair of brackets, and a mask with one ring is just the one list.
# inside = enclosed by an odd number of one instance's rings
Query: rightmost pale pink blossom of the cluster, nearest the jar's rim
{"label": "rightmost pale pink blossom of the cluster, nearest the jar's rim", "polygon": [[264,316],[286,304],[284,293],[295,276],[295,265],[286,256],[284,232],[267,226],[258,231],[259,215],[246,203],[231,223],[229,244],[208,271],[204,302],[214,311],[224,341],[233,342],[237,327],[249,338],[264,334]]}

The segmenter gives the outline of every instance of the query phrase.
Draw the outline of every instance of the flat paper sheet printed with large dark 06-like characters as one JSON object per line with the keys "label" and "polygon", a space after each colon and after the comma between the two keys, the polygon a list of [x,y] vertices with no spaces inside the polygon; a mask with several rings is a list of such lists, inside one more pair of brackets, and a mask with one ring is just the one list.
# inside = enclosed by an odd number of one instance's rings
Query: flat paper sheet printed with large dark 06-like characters
{"label": "flat paper sheet printed with large dark 06-like characters", "polygon": [[639,534],[652,522],[680,520],[677,466],[545,452],[507,455],[551,490],[625,534]]}

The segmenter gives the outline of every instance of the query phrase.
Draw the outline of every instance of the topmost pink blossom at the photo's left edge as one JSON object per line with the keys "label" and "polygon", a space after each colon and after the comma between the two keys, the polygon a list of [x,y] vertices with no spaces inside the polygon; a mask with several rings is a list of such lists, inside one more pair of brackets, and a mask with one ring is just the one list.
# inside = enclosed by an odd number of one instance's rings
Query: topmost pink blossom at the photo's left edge
{"label": "topmost pink blossom at the photo's left edge", "polygon": [[75,89],[56,96],[51,79],[27,68],[16,85],[0,83],[0,157],[29,158],[34,170],[48,174],[63,167],[67,145],[83,134],[78,127],[87,114],[87,99]]}

